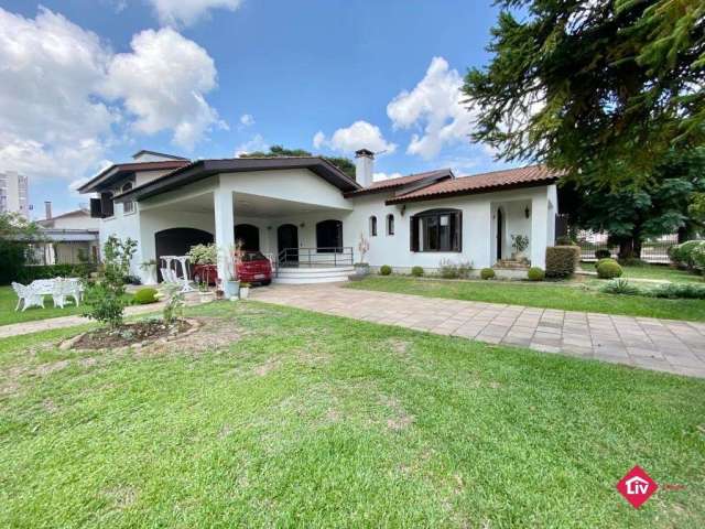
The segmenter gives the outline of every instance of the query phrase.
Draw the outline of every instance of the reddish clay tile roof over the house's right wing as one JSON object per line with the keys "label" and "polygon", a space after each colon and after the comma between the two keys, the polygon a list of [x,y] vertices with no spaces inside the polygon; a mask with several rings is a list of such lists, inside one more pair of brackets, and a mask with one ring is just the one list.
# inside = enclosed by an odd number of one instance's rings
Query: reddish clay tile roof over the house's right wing
{"label": "reddish clay tile roof over the house's right wing", "polygon": [[528,187],[555,182],[563,173],[545,165],[530,165],[520,169],[494,171],[491,173],[459,176],[404,193],[387,201],[388,204],[442,198],[447,195],[469,195],[506,187]]}

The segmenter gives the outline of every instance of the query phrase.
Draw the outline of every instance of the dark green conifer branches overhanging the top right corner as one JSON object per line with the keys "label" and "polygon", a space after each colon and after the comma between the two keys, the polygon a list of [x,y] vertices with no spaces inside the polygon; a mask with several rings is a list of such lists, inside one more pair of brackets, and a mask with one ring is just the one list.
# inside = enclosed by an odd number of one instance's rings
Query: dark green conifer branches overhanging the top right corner
{"label": "dark green conifer branches overhanging the top right corner", "polygon": [[642,185],[705,142],[703,0],[499,0],[463,87],[475,141],[567,179]]}

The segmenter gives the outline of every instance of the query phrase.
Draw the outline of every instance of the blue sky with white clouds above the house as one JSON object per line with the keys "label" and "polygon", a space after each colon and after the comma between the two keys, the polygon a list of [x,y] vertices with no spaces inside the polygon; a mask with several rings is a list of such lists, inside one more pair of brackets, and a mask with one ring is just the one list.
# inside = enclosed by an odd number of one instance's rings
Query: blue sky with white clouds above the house
{"label": "blue sky with white clouds above the house", "polygon": [[75,207],[86,198],[72,183],[142,148],[229,158],[275,143],[349,156],[370,147],[388,151],[379,177],[502,166],[469,143],[471,115],[457,105],[466,69],[488,58],[489,1],[0,7],[0,47],[13,44],[0,62],[15,65],[0,68],[0,164],[29,173],[37,214],[45,199]]}

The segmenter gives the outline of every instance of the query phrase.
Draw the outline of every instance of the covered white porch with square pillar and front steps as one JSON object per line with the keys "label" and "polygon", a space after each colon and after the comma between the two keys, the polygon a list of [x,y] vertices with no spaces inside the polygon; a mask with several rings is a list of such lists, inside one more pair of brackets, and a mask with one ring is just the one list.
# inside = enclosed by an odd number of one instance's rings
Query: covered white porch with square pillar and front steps
{"label": "covered white porch with square pillar and front steps", "polygon": [[230,278],[241,242],[243,250],[269,258],[274,282],[341,281],[354,262],[354,249],[343,240],[350,212],[341,205],[217,187],[145,201],[140,203],[142,260],[159,262],[194,245],[215,244],[218,277]]}

